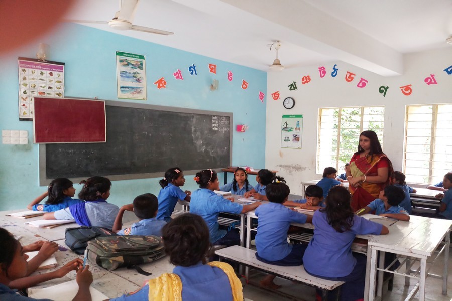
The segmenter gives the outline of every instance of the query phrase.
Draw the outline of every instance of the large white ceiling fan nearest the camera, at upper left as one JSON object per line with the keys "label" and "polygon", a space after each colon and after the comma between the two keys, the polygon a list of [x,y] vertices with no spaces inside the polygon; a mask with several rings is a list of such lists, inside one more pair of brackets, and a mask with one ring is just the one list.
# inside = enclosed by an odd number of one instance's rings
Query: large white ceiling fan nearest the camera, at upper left
{"label": "large white ceiling fan nearest the camera, at upper left", "polygon": [[119,0],[120,9],[118,12],[116,12],[115,17],[113,17],[113,19],[111,19],[110,21],[92,21],[92,20],[66,20],[66,21],[74,23],[108,24],[111,28],[116,30],[135,30],[165,36],[174,34],[172,32],[165,30],[133,25],[132,22],[134,20],[135,12],[137,11],[139,2],[140,0]]}

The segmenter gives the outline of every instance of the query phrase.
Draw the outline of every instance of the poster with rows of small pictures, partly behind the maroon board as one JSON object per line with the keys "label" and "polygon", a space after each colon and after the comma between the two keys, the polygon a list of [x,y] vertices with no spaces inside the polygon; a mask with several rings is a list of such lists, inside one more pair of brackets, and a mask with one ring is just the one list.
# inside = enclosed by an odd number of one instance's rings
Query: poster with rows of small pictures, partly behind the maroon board
{"label": "poster with rows of small pictures, partly behind the maroon board", "polygon": [[64,97],[64,63],[19,57],[19,120],[33,120],[35,97]]}

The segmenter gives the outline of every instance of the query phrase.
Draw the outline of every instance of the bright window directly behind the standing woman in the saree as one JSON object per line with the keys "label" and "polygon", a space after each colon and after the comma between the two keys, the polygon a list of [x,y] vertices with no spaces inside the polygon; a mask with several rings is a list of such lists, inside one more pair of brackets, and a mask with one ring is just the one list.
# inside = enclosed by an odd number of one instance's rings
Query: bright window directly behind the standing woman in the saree
{"label": "bright window directly behind the standing woman in the saree", "polygon": [[342,173],[358,150],[360,133],[373,130],[383,146],[385,107],[321,108],[318,116],[317,174],[328,166]]}

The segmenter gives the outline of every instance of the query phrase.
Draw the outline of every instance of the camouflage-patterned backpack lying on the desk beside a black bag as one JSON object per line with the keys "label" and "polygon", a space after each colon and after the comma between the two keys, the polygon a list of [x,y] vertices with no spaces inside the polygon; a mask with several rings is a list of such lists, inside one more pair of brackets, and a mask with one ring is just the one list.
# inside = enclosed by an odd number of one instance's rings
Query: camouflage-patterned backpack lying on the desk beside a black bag
{"label": "camouflage-patterned backpack lying on the desk beside a black bag", "polygon": [[95,262],[109,271],[127,267],[134,268],[141,274],[150,275],[137,265],[164,256],[162,239],[153,235],[100,236],[88,242],[89,262]]}

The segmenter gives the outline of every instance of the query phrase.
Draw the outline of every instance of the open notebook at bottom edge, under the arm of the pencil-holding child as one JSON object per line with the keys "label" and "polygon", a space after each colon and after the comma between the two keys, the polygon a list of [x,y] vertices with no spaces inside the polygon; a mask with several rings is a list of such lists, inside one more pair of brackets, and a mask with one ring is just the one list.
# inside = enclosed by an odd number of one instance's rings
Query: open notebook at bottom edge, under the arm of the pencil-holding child
{"label": "open notebook at bottom edge, under the arm of the pencil-holding child", "polygon": [[[78,291],[76,280],[64,282],[46,288],[29,288],[28,296],[35,299],[51,299],[53,301],[72,300]],[[109,299],[106,295],[95,288],[89,287],[92,301],[103,301]]]}

